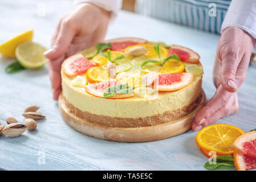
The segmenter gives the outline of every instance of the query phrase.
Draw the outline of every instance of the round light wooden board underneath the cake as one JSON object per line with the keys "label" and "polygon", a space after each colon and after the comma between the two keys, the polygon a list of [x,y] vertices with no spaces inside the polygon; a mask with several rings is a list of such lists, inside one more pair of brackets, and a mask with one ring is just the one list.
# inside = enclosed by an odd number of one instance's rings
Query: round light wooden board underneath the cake
{"label": "round light wooden board underneath the cake", "polygon": [[202,90],[201,93],[201,102],[192,113],[181,119],[177,119],[174,122],[155,126],[109,127],[88,122],[86,119],[81,119],[71,113],[70,109],[65,104],[65,99],[62,93],[59,96],[59,109],[64,121],[66,121],[68,125],[90,137],[115,142],[151,142],[174,137],[190,130],[194,116],[205,104],[204,90]]}

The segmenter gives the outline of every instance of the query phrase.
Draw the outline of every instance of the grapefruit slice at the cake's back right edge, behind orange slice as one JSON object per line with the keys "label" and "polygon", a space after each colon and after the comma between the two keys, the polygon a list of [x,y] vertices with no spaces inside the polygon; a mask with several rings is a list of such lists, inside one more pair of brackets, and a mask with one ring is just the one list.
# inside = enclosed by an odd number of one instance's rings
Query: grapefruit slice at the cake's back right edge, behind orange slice
{"label": "grapefruit slice at the cake's back right edge, behind orange slice", "polygon": [[180,60],[183,62],[198,63],[200,60],[200,56],[198,55],[198,53],[192,51],[192,49],[190,48],[183,46],[172,45],[169,48],[168,56],[173,54],[178,55],[178,57],[180,57]]}

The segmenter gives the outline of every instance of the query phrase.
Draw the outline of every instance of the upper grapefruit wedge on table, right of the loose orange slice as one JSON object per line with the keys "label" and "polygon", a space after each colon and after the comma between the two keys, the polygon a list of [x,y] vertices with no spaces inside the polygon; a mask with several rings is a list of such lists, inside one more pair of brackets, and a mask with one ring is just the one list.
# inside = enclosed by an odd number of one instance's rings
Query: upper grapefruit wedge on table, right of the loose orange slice
{"label": "upper grapefruit wedge on table, right of the loose orange slice", "polygon": [[234,140],[231,147],[256,159],[256,131],[250,131]]}

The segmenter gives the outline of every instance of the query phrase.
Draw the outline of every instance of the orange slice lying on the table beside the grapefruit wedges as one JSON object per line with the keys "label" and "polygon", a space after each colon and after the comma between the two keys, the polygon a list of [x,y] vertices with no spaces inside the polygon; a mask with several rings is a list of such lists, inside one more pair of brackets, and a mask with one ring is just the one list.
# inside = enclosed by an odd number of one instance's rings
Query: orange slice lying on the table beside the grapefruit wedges
{"label": "orange slice lying on the table beside the grapefruit wedges", "polygon": [[233,155],[231,143],[244,134],[243,130],[233,125],[209,125],[198,131],[197,145],[205,151],[215,151],[217,155]]}

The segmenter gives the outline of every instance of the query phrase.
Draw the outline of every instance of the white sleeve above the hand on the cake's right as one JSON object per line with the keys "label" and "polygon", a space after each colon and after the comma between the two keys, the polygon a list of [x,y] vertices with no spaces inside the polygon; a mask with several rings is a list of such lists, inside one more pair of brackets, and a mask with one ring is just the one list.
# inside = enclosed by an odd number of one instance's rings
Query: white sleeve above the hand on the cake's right
{"label": "white sleeve above the hand on the cake's right", "polygon": [[[256,39],[256,0],[232,0],[222,23],[221,33],[230,26],[239,27]],[[256,44],[253,52],[256,52]]]}

